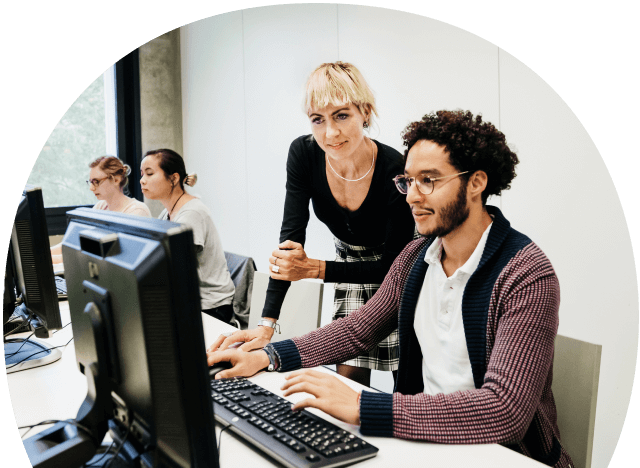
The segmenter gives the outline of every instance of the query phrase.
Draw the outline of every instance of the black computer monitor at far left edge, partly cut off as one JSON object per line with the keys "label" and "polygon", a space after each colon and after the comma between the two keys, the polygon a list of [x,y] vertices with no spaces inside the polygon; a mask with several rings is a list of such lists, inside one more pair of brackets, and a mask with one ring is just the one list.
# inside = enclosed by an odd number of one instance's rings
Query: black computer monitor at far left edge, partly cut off
{"label": "black computer monitor at far left edge, partly cut off", "polygon": [[[38,338],[62,328],[58,293],[49,248],[42,189],[26,185],[11,230],[3,291],[3,344],[7,373],[57,361],[58,349]],[[12,339],[11,333],[33,331],[35,339]]]}

